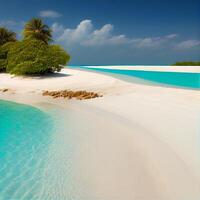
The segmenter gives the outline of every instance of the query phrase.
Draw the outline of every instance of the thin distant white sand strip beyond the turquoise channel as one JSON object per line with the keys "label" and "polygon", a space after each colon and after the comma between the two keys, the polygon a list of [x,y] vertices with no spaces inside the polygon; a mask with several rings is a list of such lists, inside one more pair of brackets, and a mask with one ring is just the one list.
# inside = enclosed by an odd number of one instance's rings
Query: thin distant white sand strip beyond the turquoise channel
{"label": "thin distant white sand strip beyond the turquoise channel", "polygon": [[119,69],[119,70],[138,70],[155,72],[187,72],[200,73],[200,66],[84,66],[96,69]]}

